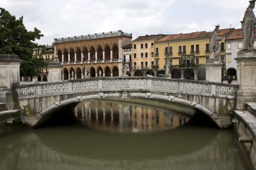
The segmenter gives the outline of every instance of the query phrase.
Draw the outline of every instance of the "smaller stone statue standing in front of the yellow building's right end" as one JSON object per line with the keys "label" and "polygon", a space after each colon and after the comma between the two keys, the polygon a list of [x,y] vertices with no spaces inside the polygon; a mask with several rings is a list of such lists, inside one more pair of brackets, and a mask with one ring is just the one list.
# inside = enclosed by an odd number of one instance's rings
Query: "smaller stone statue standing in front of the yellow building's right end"
{"label": "smaller stone statue standing in front of the yellow building's right end", "polygon": [[220,41],[222,38],[218,36],[220,26],[216,26],[214,32],[212,32],[211,44],[210,44],[210,60],[217,60],[220,62]]}

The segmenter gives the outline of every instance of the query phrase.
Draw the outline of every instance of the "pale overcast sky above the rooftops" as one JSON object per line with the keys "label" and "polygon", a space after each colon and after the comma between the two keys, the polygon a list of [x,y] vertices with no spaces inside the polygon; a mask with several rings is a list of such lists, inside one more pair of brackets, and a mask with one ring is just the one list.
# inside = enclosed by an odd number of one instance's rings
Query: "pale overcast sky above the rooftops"
{"label": "pale overcast sky above the rooftops", "polygon": [[1,0],[28,30],[54,38],[123,30],[133,40],[146,34],[179,34],[241,28],[248,0]]}

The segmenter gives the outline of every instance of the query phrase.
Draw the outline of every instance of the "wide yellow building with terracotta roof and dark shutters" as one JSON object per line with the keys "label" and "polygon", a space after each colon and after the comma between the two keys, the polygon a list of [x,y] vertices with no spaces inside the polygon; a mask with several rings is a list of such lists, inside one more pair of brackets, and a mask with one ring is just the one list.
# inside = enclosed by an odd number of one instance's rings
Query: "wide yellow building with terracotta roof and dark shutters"
{"label": "wide yellow building with terracotta roof and dark shutters", "polygon": [[[225,58],[225,37],[234,28],[222,29],[218,35],[222,38],[221,57]],[[210,55],[212,32],[192,32],[188,34],[170,34],[155,42],[155,63],[159,66],[157,75],[165,74],[166,59],[170,58],[172,78],[205,80],[205,70],[199,68],[206,63]]]}

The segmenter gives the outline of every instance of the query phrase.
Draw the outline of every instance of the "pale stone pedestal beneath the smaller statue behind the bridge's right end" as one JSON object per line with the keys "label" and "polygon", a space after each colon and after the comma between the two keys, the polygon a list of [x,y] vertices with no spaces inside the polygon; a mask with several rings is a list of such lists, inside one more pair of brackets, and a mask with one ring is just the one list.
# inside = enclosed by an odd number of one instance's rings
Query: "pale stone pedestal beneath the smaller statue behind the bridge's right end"
{"label": "pale stone pedestal beneath the smaller statue behind the bridge's right end", "polygon": [[218,60],[207,60],[205,66],[205,80],[222,83],[222,63]]}

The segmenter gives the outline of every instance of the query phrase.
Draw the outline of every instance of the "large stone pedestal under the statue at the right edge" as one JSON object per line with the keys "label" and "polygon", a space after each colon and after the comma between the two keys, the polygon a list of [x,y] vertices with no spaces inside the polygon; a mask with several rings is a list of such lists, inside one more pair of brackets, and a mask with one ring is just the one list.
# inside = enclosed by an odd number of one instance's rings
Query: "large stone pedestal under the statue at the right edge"
{"label": "large stone pedestal under the statue at the right edge", "polygon": [[239,85],[236,109],[244,110],[246,102],[256,102],[256,50],[239,51],[235,60]]}

